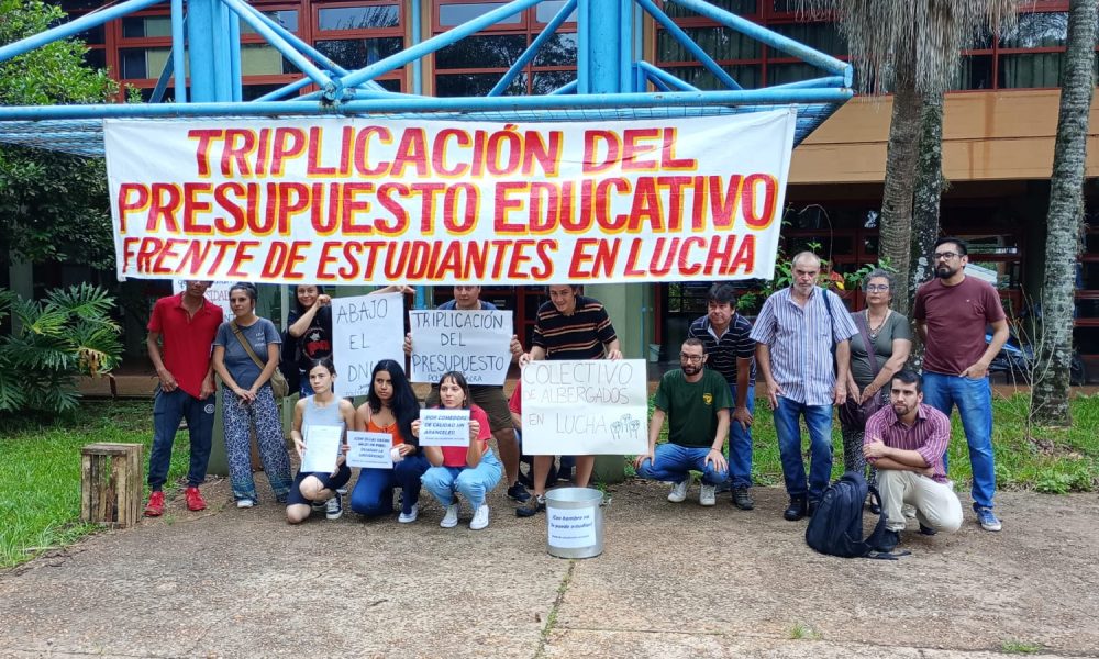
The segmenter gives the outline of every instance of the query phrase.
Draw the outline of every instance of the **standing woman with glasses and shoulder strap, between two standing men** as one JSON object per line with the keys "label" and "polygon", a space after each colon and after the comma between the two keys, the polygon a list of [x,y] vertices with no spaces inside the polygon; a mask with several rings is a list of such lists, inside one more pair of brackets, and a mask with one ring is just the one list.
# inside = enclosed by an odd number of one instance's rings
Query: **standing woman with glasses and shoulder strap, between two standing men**
{"label": "standing woman with glasses and shoulder strap, between two standing men", "polygon": [[[866,474],[863,431],[866,420],[889,404],[889,382],[912,353],[912,331],[908,319],[891,309],[893,277],[882,269],[872,270],[863,282],[866,309],[851,314],[858,334],[851,337],[851,368],[847,371],[847,403],[840,407],[843,429],[843,466]],[[873,349],[869,349],[873,347]],[[870,468],[868,482],[876,472]]]}

